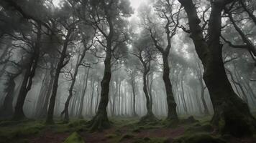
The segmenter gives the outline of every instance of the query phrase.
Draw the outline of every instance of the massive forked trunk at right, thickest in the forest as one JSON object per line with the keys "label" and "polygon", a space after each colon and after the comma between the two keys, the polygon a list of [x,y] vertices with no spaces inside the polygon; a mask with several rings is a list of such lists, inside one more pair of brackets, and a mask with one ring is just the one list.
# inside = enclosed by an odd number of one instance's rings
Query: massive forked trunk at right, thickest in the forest
{"label": "massive forked trunk at right, thickest in the forest", "polygon": [[191,38],[196,47],[196,52],[204,65],[204,81],[209,89],[211,102],[214,106],[212,124],[219,127],[222,134],[232,134],[236,137],[251,135],[255,129],[255,118],[250,109],[232,89],[227,74],[225,73],[221,55],[221,12],[225,4],[231,1],[213,1],[209,19],[209,40],[206,43],[199,26],[196,7],[192,0],[179,0],[185,7],[188,15],[188,24]]}

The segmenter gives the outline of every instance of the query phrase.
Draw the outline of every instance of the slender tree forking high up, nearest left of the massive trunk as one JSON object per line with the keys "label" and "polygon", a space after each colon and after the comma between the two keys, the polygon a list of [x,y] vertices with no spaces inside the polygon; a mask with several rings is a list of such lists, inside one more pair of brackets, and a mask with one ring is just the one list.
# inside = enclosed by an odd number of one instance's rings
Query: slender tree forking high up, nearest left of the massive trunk
{"label": "slender tree forking high up, nearest left of the massive trunk", "polygon": [[[166,101],[168,103],[168,120],[178,119],[178,114],[176,111],[177,104],[175,103],[173,96],[173,87],[170,82],[170,66],[168,57],[171,49],[171,40],[175,36],[176,30],[179,24],[179,14],[178,11],[174,9],[174,1],[157,1],[155,3],[155,12],[159,19],[163,20],[165,23],[164,28],[157,27],[156,21],[152,21],[149,14],[145,14],[146,20],[144,21],[145,29],[149,31],[150,37],[154,42],[155,48],[160,51],[163,59],[163,82],[165,83]],[[162,30],[163,29],[163,30]],[[165,37],[161,36],[161,33],[165,31]],[[166,45],[163,44],[166,41]]]}

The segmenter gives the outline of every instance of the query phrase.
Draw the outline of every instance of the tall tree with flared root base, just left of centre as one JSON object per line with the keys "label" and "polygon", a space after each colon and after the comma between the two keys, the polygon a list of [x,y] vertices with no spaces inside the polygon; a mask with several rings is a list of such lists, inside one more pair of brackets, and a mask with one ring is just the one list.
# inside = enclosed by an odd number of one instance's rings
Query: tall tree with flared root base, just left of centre
{"label": "tall tree with flared root base, just left of centre", "polygon": [[[96,115],[91,120],[91,130],[109,127],[106,107],[109,102],[109,82],[111,80],[111,56],[112,53],[126,41],[123,17],[129,16],[132,9],[129,1],[91,1],[93,7],[93,26],[102,35],[103,41],[98,40],[106,51],[104,60],[104,77],[101,81],[101,100]],[[118,29],[118,30],[117,30]]]}

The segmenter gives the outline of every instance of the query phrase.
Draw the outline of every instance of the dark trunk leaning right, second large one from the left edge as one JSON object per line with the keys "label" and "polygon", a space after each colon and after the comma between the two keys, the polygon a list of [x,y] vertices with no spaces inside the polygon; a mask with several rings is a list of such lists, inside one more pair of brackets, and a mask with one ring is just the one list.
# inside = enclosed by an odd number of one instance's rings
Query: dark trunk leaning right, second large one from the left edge
{"label": "dark trunk leaning right, second large one from the left edge", "polygon": [[25,99],[27,97],[27,93],[32,87],[32,82],[33,78],[35,76],[35,71],[37,69],[37,61],[40,56],[40,41],[41,41],[41,26],[39,25],[37,27],[37,41],[35,46],[33,47],[33,54],[30,57],[29,64],[27,65],[23,82],[22,82],[22,87],[19,91],[16,107],[14,109],[14,117],[13,119],[19,120],[19,119],[24,119],[25,115],[23,112],[23,105],[25,102]]}

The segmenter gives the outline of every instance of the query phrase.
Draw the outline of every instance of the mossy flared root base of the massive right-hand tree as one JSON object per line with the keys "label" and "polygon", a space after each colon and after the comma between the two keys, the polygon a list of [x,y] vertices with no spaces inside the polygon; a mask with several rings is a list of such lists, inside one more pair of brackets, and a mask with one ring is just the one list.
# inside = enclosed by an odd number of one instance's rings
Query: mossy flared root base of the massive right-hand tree
{"label": "mossy flared root base of the massive right-hand tree", "polygon": [[250,114],[247,104],[224,102],[216,110],[219,112],[215,112],[211,123],[218,128],[222,135],[232,134],[234,137],[252,136],[256,129],[256,121]]}

